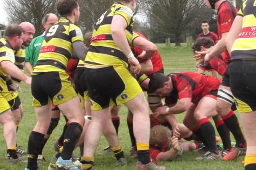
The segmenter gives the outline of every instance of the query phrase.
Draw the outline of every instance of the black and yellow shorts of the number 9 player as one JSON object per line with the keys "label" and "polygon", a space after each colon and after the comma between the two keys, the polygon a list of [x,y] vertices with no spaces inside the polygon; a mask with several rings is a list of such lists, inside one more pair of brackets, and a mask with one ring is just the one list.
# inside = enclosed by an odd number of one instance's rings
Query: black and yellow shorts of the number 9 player
{"label": "black and yellow shorts of the number 9 player", "polygon": [[44,72],[32,75],[33,106],[59,105],[76,97],[66,72]]}

